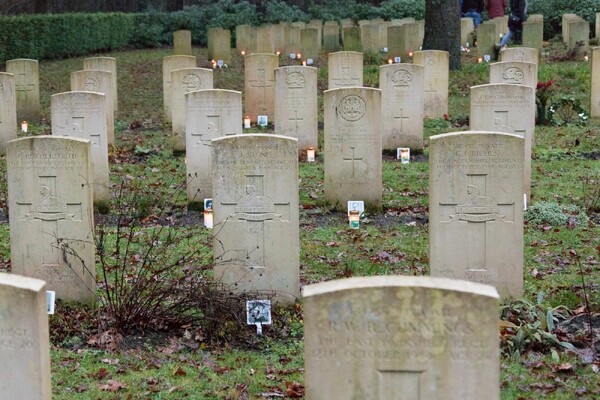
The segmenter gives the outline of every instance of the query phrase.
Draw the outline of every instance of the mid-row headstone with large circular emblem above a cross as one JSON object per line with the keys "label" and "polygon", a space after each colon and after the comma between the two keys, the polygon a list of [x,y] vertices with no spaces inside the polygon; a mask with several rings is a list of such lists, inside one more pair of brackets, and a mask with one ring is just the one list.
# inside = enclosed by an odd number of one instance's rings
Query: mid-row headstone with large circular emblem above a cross
{"label": "mid-row headstone with large circular emblem above a cross", "polygon": [[324,104],[325,199],[338,210],[350,200],[381,209],[381,91],[326,90]]}

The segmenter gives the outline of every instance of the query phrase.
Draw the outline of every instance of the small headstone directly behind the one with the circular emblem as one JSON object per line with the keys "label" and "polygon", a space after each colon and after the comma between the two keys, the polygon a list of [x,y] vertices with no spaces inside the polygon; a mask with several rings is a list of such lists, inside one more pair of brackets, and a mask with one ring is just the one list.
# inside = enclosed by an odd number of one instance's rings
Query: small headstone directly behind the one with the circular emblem
{"label": "small headstone directly behind the one with the circular emblem", "polygon": [[361,87],[363,85],[363,54],[357,51],[338,51],[328,56],[328,87]]}

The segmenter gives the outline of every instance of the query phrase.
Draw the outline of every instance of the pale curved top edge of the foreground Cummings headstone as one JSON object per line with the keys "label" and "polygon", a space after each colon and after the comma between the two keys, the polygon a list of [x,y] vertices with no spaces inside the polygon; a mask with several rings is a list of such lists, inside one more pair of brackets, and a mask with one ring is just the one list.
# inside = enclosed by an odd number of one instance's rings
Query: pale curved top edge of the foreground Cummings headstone
{"label": "pale curved top edge of the foreground Cummings headstone", "polygon": [[333,292],[372,288],[440,289],[488,296],[494,299],[499,298],[496,288],[490,285],[458,279],[432,278],[429,276],[367,276],[336,279],[305,286],[303,297],[307,298]]}

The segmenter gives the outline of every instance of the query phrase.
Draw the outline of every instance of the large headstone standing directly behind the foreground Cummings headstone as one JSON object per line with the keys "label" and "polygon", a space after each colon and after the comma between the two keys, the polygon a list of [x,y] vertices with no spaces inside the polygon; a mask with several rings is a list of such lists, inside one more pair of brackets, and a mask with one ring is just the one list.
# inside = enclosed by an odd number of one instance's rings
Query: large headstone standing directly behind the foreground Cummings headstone
{"label": "large headstone standing directly behind the foreground Cummings headstone", "polygon": [[429,141],[431,276],[523,294],[524,139],[457,132]]}

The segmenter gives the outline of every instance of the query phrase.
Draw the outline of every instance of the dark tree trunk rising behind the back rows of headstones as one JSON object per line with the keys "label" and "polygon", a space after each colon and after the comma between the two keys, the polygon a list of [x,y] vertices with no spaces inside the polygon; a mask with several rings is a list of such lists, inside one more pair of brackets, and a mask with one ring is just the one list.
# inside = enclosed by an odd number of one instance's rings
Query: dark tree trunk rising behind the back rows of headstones
{"label": "dark tree trunk rising behind the back rows of headstones", "polygon": [[445,50],[450,70],[460,69],[460,8],[458,0],[425,0],[423,50]]}

